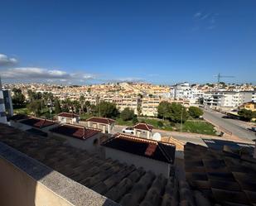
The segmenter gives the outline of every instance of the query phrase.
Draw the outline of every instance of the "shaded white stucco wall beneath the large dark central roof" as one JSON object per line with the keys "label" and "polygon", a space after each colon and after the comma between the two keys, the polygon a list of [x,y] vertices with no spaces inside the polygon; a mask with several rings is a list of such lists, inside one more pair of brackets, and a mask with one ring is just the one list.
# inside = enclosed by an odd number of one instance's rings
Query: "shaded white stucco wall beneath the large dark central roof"
{"label": "shaded white stucco wall beneath the large dark central roof", "polygon": [[109,147],[104,146],[105,157],[113,160],[119,160],[125,162],[128,165],[135,165],[136,167],[143,167],[144,170],[152,170],[156,175],[164,175],[169,177],[171,164],[166,162],[152,160],[143,156],[136,156],[125,151],[118,151]]}

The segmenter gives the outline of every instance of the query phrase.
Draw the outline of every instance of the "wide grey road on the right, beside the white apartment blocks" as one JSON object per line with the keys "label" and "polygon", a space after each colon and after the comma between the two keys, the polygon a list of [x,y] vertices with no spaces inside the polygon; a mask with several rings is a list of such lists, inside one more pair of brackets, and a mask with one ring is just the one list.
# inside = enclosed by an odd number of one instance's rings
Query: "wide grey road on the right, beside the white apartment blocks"
{"label": "wide grey road on the right, beside the white apartment blocks", "polygon": [[236,137],[243,140],[256,139],[256,133],[249,130],[251,126],[247,122],[243,122],[236,119],[223,118],[225,114],[218,113],[211,110],[204,110],[203,117],[205,120],[209,120],[216,126],[223,127],[225,130],[232,132]]}

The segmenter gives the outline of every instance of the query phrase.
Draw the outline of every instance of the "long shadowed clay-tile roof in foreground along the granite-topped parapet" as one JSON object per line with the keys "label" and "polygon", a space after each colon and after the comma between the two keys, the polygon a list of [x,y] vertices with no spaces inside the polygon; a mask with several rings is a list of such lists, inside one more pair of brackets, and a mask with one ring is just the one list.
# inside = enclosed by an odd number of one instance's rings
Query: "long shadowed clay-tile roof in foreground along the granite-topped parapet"
{"label": "long shadowed clay-tile roof in foreground along the granite-topped parapet", "polygon": [[[121,205],[197,205],[207,200],[186,182],[154,175],[133,165],[103,160],[63,143],[0,124],[0,141]],[[15,198],[15,194],[13,195]]]}

